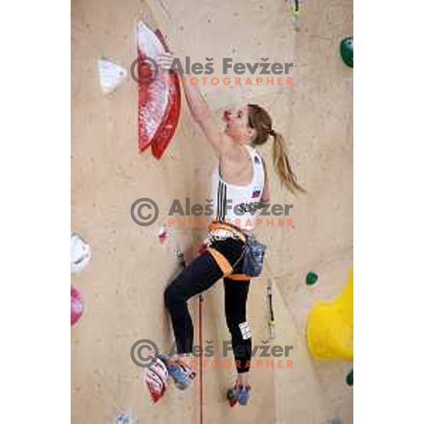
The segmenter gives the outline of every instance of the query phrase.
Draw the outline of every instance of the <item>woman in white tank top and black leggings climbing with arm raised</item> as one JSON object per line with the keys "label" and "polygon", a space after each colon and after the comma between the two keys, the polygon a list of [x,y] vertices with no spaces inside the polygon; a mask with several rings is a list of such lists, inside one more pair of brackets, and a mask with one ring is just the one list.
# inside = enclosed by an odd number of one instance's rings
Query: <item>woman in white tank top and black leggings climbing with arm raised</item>
{"label": "woman in white tank top and black leggings climbing with arm raised", "polygon": [[[157,60],[160,69],[169,71],[173,59],[172,54],[161,55]],[[273,163],[281,183],[293,193],[304,190],[296,182],[290,167],[283,137],[274,131],[271,117],[264,108],[245,105],[239,110],[226,112],[225,129],[221,131],[213,122],[211,111],[199,89],[189,83],[189,78],[185,78],[185,81],[185,98],[194,122],[199,125],[218,158],[211,182],[213,220],[208,227],[204,253],[179,273],[165,290],[165,306],[170,312],[178,353],[172,358],[163,354],[158,357],[167,363],[177,387],[185,389],[189,386],[194,372],[187,364],[194,358],[193,323],[187,300],[208,290],[223,278],[225,319],[237,370],[235,385],[228,396],[230,401],[246,405],[250,393],[252,356],[252,334],[247,323],[246,303],[252,274],[246,273],[242,258],[249,240],[252,240],[251,230],[255,223],[253,211],[270,201],[266,167],[257,146],[266,143],[271,136]]]}

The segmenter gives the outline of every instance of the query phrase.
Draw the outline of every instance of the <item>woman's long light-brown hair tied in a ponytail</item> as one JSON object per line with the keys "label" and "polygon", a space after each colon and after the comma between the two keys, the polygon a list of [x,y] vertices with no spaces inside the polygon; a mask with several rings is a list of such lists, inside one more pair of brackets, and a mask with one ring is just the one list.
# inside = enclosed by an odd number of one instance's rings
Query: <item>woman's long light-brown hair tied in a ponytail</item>
{"label": "woman's long light-brown hair tied in a ponytail", "polygon": [[249,105],[249,126],[257,131],[253,146],[260,146],[268,140],[269,136],[273,136],[273,164],[281,184],[285,185],[293,194],[305,193],[305,189],[296,181],[296,175],[290,166],[283,136],[272,129],[272,119],[269,113],[259,105]]}

